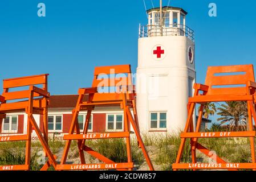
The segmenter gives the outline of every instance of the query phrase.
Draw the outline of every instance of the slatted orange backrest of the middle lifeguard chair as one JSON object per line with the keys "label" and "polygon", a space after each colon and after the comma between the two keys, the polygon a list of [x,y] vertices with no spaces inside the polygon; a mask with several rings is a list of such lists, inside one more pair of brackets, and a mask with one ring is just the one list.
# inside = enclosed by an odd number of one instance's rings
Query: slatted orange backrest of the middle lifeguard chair
{"label": "slatted orange backrest of the middle lifeguard chair", "polygon": [[[131,65],[96,67],[92,87],[96,87],[98,90],[107,88],[109,93],[120,93],[124,91],[124,89],[133,88]],[[111,92],[110,88],[116,88],[116,90],[112,89]],[[128,89],[127,91],[131,92],[132,90]]]}

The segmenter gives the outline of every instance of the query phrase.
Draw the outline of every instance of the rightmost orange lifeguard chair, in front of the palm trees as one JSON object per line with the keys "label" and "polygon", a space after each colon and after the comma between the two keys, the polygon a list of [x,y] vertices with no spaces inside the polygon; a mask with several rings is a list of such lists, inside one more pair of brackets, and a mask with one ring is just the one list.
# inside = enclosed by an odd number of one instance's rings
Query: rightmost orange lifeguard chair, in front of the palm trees
{"label": "rightmost orange lifeguard chair, in front of the palm trees", "polygon": [[[239,74],[239,73],[243,74]],[[229,74],[227,74],[229,73]],[[232,73],[232,74],[230,74]],[[222,74],[222,75],[221,75]],[[231,87],[230,85],[237,85],[238,87]],[[173,164],[173,169],[256,169],[255,163],[255,148],[254,138],[255,131],[253,129],[253,119],[256,122],[256,83],[254,79],[253,65],[231,65],[223,67],[208,67],[205,85],[194,84],[194,96],[189,98],[188,102],[188,119],[184,133],[181,133],[181,144],[178,150],[176,163]],[[200,93],[202,92],[202,94]],[[200,132],[202,121],[202,113],[205,103],[208,102],[224,102],[224,101],[246,101],[248,107],[249,131],[236,132]],[[196,131],[193,126],[193,114],[196,104],[200,104],[200,112]],[[249,137],[251,146],[252,163],[226,163],[213,152],[197,142],[198,138],[221,138],[221,137]],[[186,139],[190,138],[192,148],[192,163],[180,163],[182,152]],[[216,164],[197,163],[196,149],[201,151],[206,156],[216,160]]]}

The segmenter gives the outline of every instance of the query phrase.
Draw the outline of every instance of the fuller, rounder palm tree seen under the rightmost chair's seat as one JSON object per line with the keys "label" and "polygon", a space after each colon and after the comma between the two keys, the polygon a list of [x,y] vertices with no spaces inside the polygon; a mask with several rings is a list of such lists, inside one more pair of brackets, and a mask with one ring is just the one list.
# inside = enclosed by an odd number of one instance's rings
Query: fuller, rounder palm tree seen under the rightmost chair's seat
{"label": "fuller, rounder palm tree seen under the rightmost chair's seat", "polygon": [[217,121],[220,121],[221,125],[225,123],[229,126],[230,130],[239,130],[239,126],[242,126],[245,130],[247,124],[247,104],[245,101],[241,102],[225,102],[218,107],[220,110],[217,114],[221,115]]}

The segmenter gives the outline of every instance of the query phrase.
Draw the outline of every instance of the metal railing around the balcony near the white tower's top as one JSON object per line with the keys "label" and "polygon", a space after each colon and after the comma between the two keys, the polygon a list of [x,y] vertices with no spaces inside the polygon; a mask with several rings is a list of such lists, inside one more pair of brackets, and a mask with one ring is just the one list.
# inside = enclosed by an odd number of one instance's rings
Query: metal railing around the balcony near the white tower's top
{"label": "metal railing around the balcony near the white tower's top", "polygon": [[168,27],[159,25],[147,25],[139,27],[139,38],[153,36],[186,36],[194,41],[194,31],[184,24],[170,24]]}

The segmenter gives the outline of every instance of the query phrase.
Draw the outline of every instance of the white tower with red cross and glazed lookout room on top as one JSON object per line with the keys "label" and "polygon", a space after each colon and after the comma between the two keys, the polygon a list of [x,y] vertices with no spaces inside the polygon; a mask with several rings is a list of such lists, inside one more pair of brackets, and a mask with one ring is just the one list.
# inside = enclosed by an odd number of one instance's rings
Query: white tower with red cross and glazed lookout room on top
{"label": "white tower with red cross and glazed lookout room on top", "polygon": [[141,131],[184,130],[188,97],[196,80],[194,31],[186,11],[165,6],[147,10],[139,30],[137,110]]}

